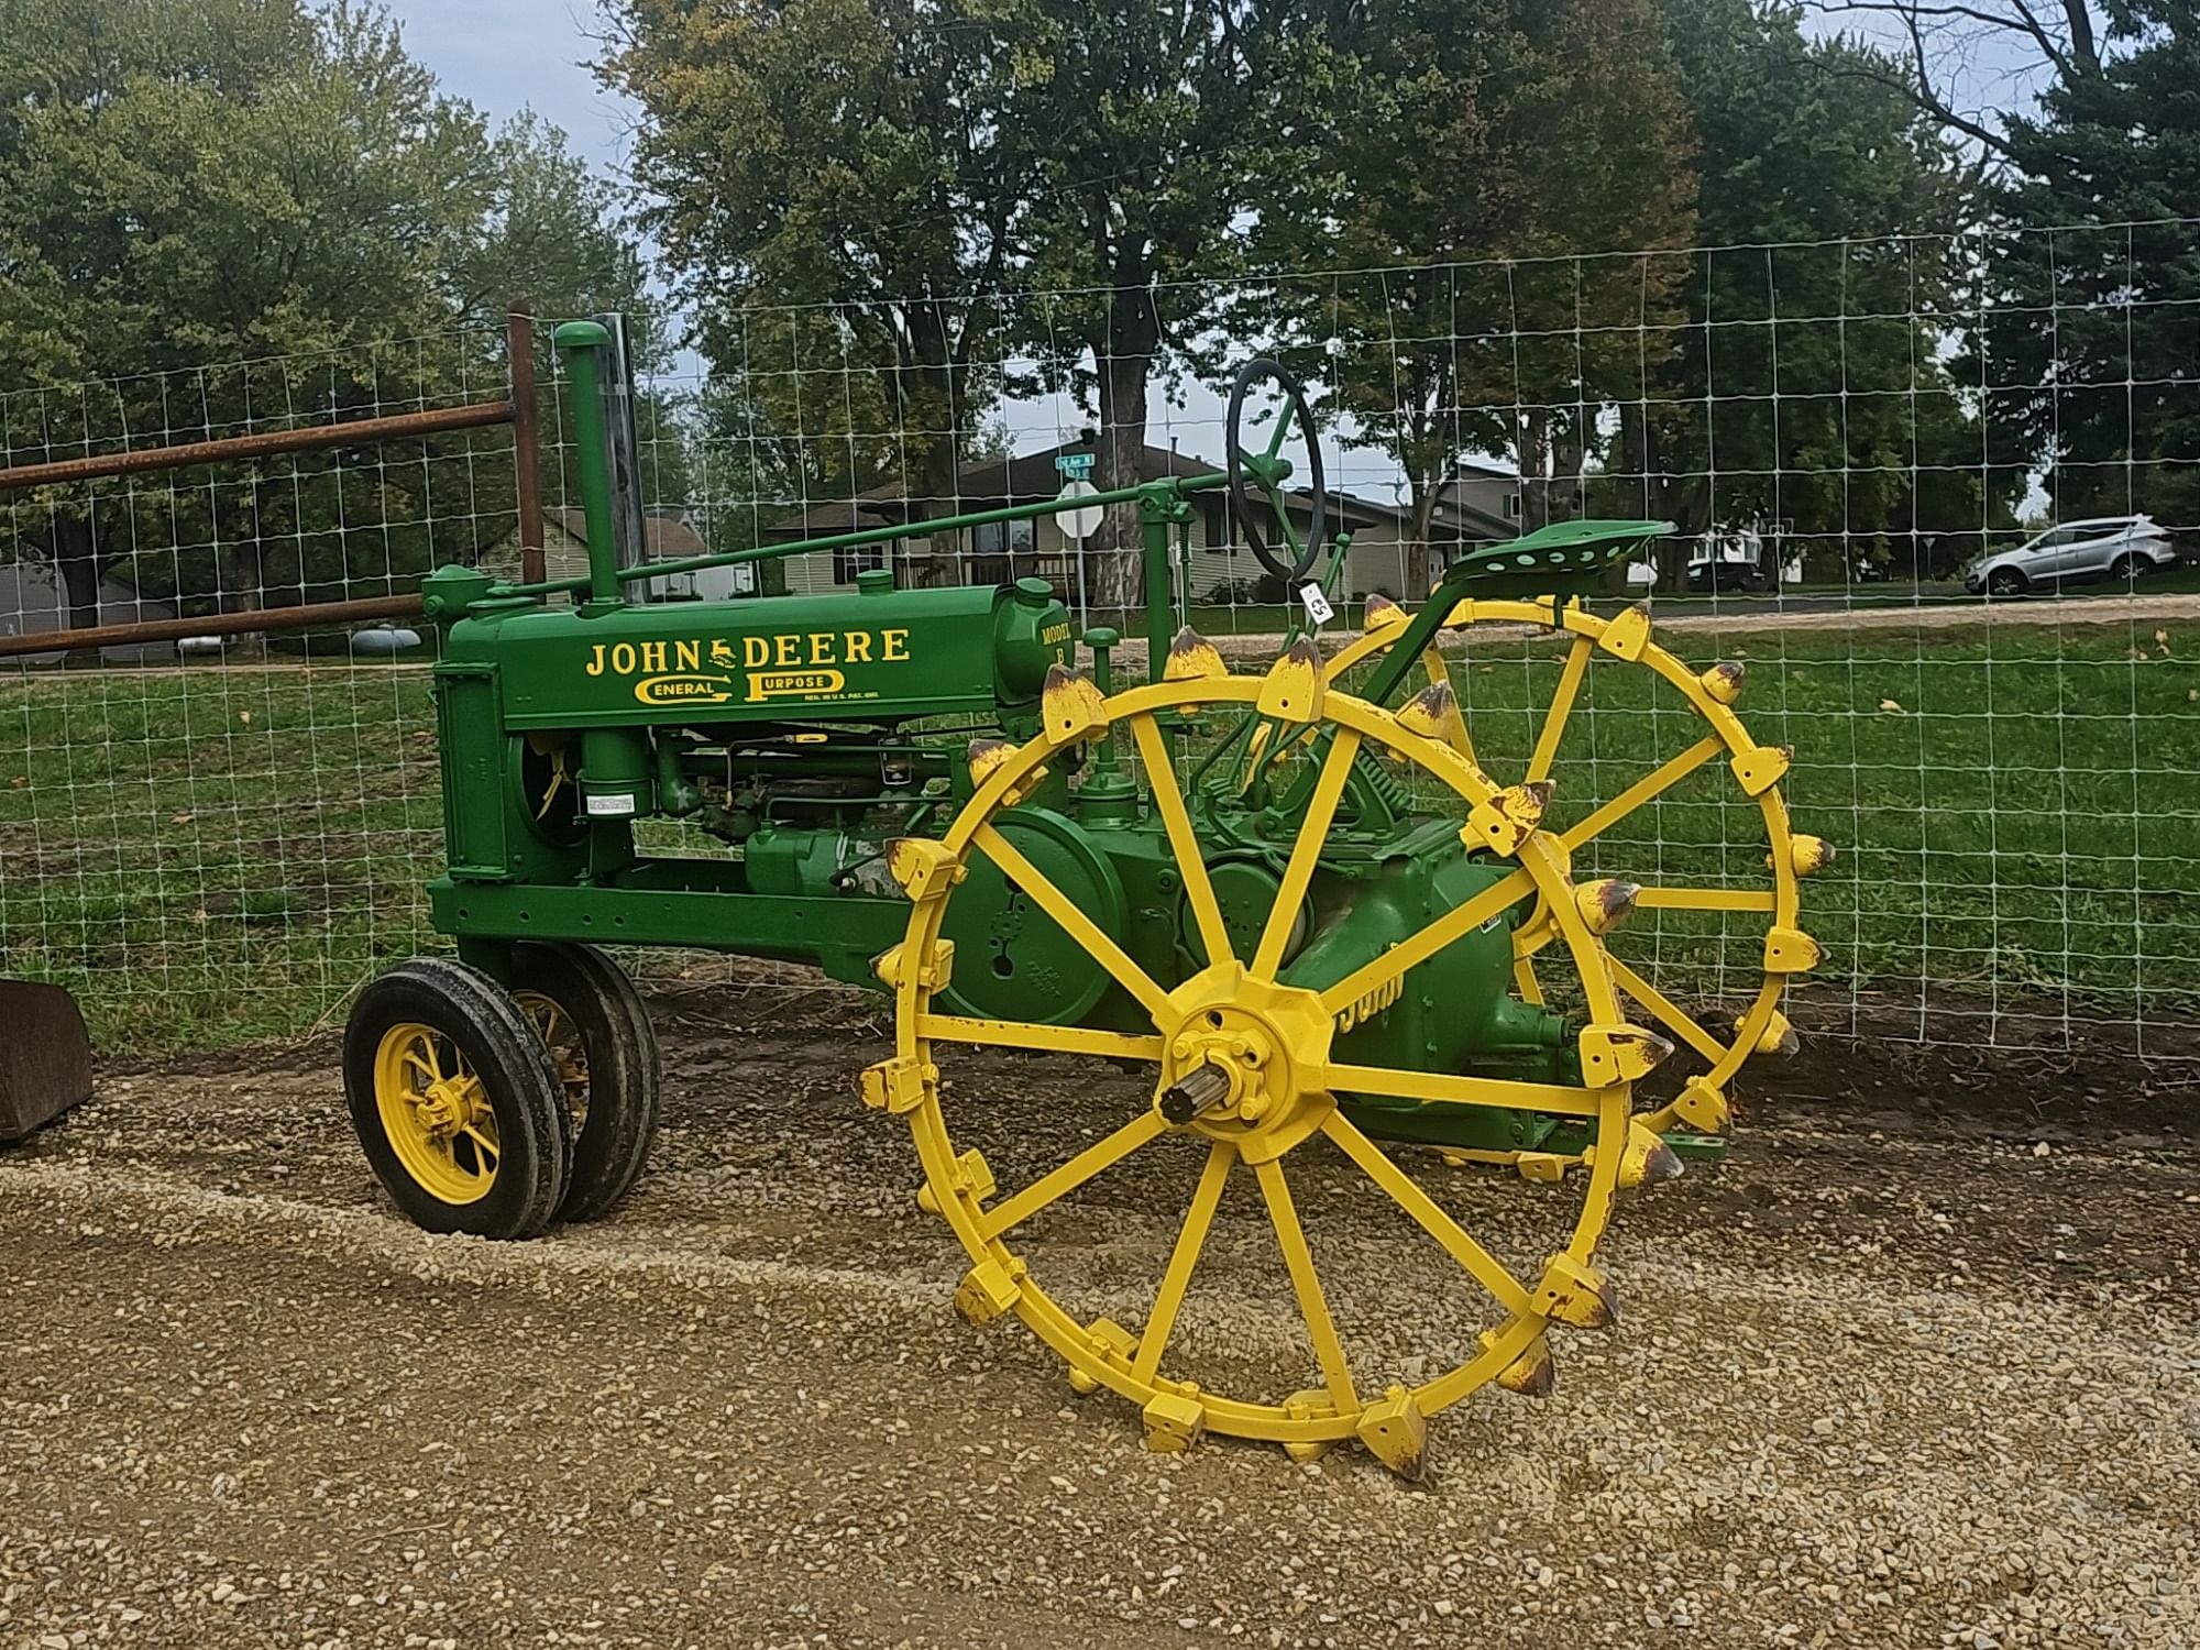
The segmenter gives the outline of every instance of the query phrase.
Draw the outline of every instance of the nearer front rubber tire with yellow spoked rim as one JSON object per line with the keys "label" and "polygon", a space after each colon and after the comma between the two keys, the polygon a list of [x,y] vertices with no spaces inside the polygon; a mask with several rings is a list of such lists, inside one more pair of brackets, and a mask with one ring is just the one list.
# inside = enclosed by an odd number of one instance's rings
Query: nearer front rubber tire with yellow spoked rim
{"label": "nearer front rubber tire with yellow spoked rim", "polygon": [[[422,1063],[464,1089],[464,1140],[416,1122]],[[488,975],[416,957],[367,986],[343,1025],[343,1096],[374,1177],[420,1230],[528,1239],[557,1217],[572,1175],[565,1089],[532,1021]]]}

